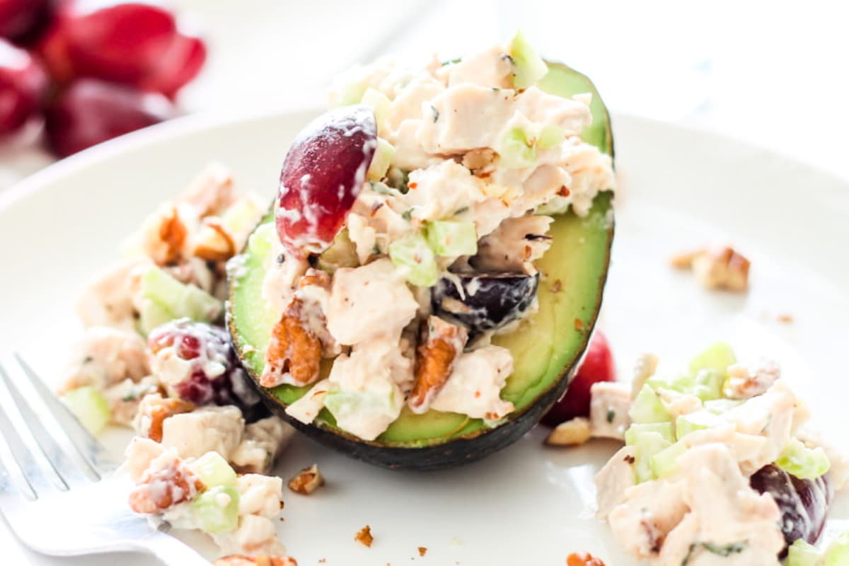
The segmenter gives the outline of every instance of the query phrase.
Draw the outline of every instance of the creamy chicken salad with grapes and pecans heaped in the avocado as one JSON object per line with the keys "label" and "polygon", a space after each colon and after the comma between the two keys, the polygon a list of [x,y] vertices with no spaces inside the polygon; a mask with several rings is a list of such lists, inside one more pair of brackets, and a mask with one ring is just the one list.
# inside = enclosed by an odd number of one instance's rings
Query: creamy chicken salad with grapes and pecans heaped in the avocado
{"label": "creamy chicken salad with grapes and pecans heaped in the avocado", "polygon": [[405,406],[491,423],[514,410],[501,397],[514,356],[492,337],[536,308],[552,215],[587,216],[615,186],[610,156],[580,137],[591,95],[543,92],[547,71],[516,37],[458,63],[382,60],[335,83],[331,114],[350,122],[340,137],[364,140],[334,154],[362,161],[339,182],[346,206],[331,217],[317,202],[315,169],[287,177],[295,159],[315,159],[292,157],[296,140],[275,222],[249,243],[264,249],[262,297],[278,313],[260,384],[309,387],[290,417],[327,409],[374,440]]}

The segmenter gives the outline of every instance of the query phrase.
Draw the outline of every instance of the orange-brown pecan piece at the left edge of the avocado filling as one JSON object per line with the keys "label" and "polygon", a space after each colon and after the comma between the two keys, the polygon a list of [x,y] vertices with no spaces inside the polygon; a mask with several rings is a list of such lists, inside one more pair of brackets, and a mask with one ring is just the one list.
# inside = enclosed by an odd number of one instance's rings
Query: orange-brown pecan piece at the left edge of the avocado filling
{"label": "orange-brown pecan piece at the left edge of the avocado filling", "polygon": [[322,345],[318,336],[306,328],[302,309],[302,301],[293,297],[280,321],[274,325],[266,350],[266,367],[260,377],[263,387],[282,384],[284,373],[289,373],[292,381],[299,385],[318,379]]}

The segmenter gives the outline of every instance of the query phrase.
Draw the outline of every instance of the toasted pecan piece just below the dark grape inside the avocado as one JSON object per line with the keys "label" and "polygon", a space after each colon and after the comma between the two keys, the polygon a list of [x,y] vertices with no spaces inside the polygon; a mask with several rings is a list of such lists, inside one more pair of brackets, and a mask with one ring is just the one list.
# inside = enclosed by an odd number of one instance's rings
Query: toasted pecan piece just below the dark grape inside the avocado
{"label": "toasted pecan piece just below the dark grape inside the avocado", "polygon": [[407,404],[417,414],[424,414],[430,402],[451,376],[454,361],[463,352],[469,331],[440,317],[428,317],[424,339],[416,355],[416,380]]}

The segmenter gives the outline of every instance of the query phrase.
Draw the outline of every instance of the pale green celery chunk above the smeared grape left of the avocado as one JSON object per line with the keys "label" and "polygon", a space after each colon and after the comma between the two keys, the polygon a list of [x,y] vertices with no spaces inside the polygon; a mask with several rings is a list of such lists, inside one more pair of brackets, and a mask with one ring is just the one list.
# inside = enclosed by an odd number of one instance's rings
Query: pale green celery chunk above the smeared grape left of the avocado
{"label": "pale green celery chunk above the smeared grape left of the avocado", "polygon": [[141,293],[145,303],[141,309],[143,333],[177,318],[212,322],[224,309],[222,302],[211,294],[180,283],[159,267],[151,267],[143,274]]}

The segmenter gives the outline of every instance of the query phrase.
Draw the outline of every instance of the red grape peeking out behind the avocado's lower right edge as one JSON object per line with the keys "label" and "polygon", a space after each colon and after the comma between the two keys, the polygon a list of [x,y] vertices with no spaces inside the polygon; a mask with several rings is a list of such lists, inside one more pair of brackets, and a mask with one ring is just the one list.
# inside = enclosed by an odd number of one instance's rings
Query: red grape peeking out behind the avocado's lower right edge
{"label": "red grape peeking out behind the avocado's lower right edge", "polygon": [[587,417],[590,388],[599,381],[616,381],[616,365],[604,333],[596,330],[569,389],[543,417],[543,424],[554,427],[575,417]]}

